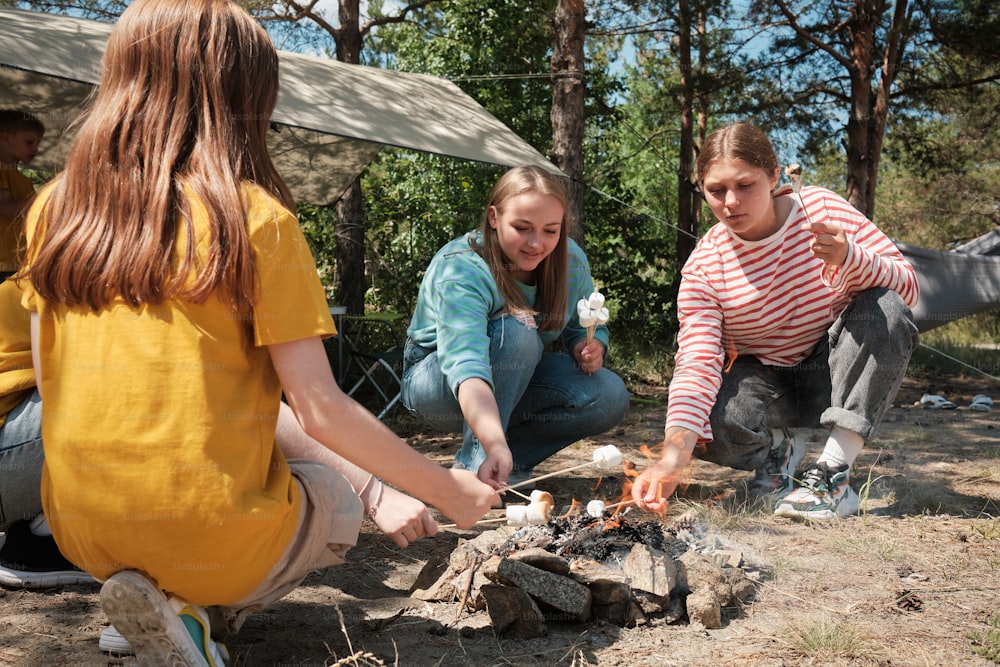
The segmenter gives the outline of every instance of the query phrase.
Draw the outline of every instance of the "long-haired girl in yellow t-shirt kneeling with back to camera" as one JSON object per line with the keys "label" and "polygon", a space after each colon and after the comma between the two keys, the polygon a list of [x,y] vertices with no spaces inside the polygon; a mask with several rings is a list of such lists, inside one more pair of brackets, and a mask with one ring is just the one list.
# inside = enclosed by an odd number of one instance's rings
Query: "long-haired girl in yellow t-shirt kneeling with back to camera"
{"label": "long-haired girl in yellow t-shirt kneeling with back to camera", "polygon": [[[265,144],[277,83],[274,46],[236,3],[134,2],[26,222],[45,514],[104,580],[101,607],[140,662],[221,663],[204,607],[235,631],[341,562],[386,502],[371,475],[355,471],[355,490],[286,461],[282,392],[305,434],[460,526],[499,502],[337,387],[333,322]],[[397,542],[434,534],[401,495]]]}

